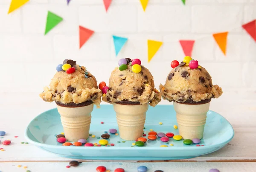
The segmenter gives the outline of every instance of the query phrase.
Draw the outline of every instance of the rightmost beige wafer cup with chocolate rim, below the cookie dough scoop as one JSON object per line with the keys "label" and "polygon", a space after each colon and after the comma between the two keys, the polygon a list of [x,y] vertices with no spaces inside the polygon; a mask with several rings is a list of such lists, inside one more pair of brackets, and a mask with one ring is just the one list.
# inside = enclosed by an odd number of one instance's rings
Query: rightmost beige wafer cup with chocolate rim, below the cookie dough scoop
{"label": "rightmost beige wafer cup with chocolate rim, below the cookie dough scoop", "polygon": [[210,99],[193,104],[173,102],[179,133],[183,139],[203,138]]}

